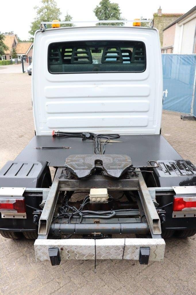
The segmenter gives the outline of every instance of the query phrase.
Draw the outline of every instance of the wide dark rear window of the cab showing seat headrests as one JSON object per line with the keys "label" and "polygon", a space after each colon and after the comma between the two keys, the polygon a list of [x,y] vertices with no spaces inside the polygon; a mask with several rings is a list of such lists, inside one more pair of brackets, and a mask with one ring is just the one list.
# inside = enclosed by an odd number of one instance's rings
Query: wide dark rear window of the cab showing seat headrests
{"label": "wide dark rear window of the cab showing seat headrests", "polygon": [[52,43],[48,70],[52,74],[143,72],[146,51],[137,41],[77,41]]}

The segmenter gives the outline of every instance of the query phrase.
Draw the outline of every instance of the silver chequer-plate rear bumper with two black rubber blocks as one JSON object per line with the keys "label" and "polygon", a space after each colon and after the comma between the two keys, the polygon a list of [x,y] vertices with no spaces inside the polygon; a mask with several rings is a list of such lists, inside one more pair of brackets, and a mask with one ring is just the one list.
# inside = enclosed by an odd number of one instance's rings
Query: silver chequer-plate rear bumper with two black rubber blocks
{"label": "silver chequer-plate rear bumper with two black rubber blocks", "polygon": [[61,260],[139,260],[140,247],[150,247],[149,260],[163,261],[165,252],[163,239],[37,239],[34,243],[36,261],[50,261],[49,248],[59,248]]}

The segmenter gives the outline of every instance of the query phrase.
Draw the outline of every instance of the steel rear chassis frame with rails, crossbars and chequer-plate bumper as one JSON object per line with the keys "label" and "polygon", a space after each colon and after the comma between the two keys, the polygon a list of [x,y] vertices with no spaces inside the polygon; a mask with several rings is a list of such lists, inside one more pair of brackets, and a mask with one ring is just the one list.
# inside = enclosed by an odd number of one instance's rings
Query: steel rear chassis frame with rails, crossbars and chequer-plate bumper
{"label": "steel rear chassis frame with rails, crossbars and chequer-plate bumper", "polygon": [[[38,238],[34,243],[36,260],[51,260],[52,265],[58,265],[61,259],[136,259],[141,264],[147,264],[148,259],[162,261],[165,251],[165,241],[161,237],[160,218],[155,208],[155,196],[158,188],[147,188],[140,169],[137,174],[125,178],[112,179],[107,176],[90,176],[87,180],[61,178],[62,168],[57,168],[39,219]],[[61,191],[82,191],[93,186],[107,187],[108,190],[138,191],[137,200],[140,218],[134,222],[100,222],[89,220],[82,224],[74,221],[52,222],[54,210]],[[161,188],[162,191],[172,191],[172,188]],[[158,191],[158,190],[157,190]],[[154,204],[155,202],[155,204]],[[135,212],[133,212],[133,215]],[[144,217],[144,218],[141,218]],[[130,218],[131,221],[131,218]],[[48,238],[49,233],[54,235],[72,233],[75,235],[94,234],[94,239],[55,239]],[[97,240],[98,234],[149,234],[150,238],[120,238]],[[51,252],[52,251],[52,252]],[[56,251],[56,252],[55,252]],[[144,254],[142,254],[143,252]],[[145,254],[147,252],[147,255]],[[52,253],[52,254],[51,254]],[[54,254],[55,253],[55,254]],[[51,256],[52,255],[52,256]],[[145,258],[147,257],[147,258]]]}

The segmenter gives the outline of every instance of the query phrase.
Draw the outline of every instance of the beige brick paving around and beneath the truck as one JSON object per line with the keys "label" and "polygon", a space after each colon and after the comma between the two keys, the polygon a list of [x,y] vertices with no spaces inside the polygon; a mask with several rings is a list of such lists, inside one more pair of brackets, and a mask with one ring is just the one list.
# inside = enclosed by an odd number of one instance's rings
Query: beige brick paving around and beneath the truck
{"label": "beige brick paving around and beneath the truck", "polygon": [[[0,74],[0,168],[14,159],[34,136],[31,78]],[[163,111],[162,135],[183,158],[196,164],[196,121]],[[196,235],[166,240],[163,263],[67,261],[60,266],[36,263],[34,242],[0,237],[0,294],[4,295],[195,295]]]}

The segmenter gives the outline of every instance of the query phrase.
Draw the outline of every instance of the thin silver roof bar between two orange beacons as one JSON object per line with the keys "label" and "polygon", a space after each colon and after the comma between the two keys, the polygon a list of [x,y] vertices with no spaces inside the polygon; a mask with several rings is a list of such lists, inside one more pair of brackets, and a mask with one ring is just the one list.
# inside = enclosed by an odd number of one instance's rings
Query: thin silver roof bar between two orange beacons
{"label": "thin silver roof bar between two orange beacons", "polygon": [[113,22],[116,22],[116,23],[122,23],[122,22],[152,22],[152,19],[138,19],[138,20],[135,20],[135,19],[132,19],[132,20],[128,20],[128,19],[125,19],[125,20],[117,20],[117,19],[112,19],[112,20],[87,20],[87,21],[69,21],[69,22],[41,22],[41,24],[73,24],[73,23],[94,23],[94,24],[97,24],[97,23],[113,23]]}

